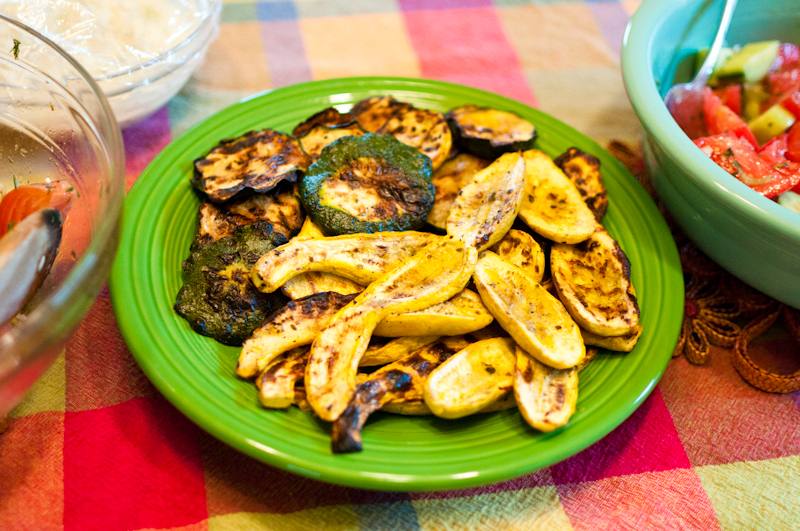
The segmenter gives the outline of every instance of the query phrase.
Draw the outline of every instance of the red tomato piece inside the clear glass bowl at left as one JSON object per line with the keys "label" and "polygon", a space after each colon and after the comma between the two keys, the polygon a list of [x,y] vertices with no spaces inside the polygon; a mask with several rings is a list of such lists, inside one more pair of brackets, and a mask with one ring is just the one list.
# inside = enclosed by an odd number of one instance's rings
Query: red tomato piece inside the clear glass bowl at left
{"label": "red tomato piece inside the clear glass bowl at left", "polygon": [[45,207],[55,208],[66,217],[76,195],[67,181],[26,184],[11,190],[0,201],[0,237],[14,225]]}

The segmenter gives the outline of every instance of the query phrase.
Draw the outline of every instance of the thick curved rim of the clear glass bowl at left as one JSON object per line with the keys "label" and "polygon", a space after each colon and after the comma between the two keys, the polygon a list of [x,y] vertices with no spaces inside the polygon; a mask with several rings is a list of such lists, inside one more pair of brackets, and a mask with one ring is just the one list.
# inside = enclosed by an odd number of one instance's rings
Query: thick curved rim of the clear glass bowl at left
{"label": "thick curved rim of the clear glass bowl at left", "polygon": [[[33,363],[39,353],[52,349],[61,344],[72,333],[74,328],[83,318],[91,302],[86,302],[86,297],[91,296],[94,301],[103,283],[97,282],[98,269],[105,267],[110,270],[111,262],[116,255],[121,230],[122,203],[125,196],[125,149],[122,141],[122,131],[117,123],[111,105],[103,91],[92,76],[71,55],[64,51],[58,44],[48,39],[33,28],[21,22],[0,14],[0,22],[16,26],[21,31],[30,35],[50,47],[61,55],[88,84],[100,105],[101,119],[107,121],[102,124],[110,134],[108,142],[104,142],[104,155],[109,162],[110,179],[106,187],[108,210],[103,212],[102,218],[93,227],[91,240],[75,265],[67,273],[60,285],[49,293],[37,307],[19,322],[14,328],[0,335],[0,354],[10,352],[11,360],[3,360],[0,356],[0,380],[7,375],[24,370]],[[51,82],[57,80],[49,78]],[[61,85],[60,83],[58,83]],[[63,85],[61,85],[62,88]],[[74,100],[80,104],[81,100],[71,91],[64,89]],[[99,136],[97,121],[91,117],[91,129]],[[87,291],[87,284],[91,286],[95,281],[97,289]],[[104,280],[105,281],[105,280]],[[91,286],[94,287],[94,286]],[[63,316],[59,315],[66,309]],[[0,404],[2,406],[2,404]]]}

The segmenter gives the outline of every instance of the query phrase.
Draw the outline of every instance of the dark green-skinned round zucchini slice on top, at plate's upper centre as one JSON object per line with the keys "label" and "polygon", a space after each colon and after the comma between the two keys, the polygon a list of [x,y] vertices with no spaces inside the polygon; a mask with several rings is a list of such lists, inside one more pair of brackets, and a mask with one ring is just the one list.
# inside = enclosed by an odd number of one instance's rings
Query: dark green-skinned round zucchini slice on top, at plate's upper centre
{"label": "dark green-skinned round zucchini slice on top, at plate's upper centre", "polygon": [[391,135],[342,137],[300,184],[306,212],[327,236],[417,230],[433,206],[431,160]]}

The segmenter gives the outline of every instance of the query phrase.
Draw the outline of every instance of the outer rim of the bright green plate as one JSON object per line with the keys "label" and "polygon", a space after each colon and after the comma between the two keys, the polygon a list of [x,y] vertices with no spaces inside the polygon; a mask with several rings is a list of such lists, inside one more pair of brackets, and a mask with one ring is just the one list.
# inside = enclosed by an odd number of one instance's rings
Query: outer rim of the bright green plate
{"label": "outer rim of the bright green plate", "polygon": [[[206,119],[198,122],[177,138],[173,139],[165,148],[161,150],[161,152],[153,159],[153,161],[145,168],[145,170],[140,174],[139,178],[137,179],[136,183],[131,188],[129,192],[129,196],[126,199],[126,208],[124,214],[124,222],[123,222],[123,230],[122,230],[122,237],[120,242],[120,250],[117,255],[117,260],[114,263],[112,268],[111,277],[109,280],[109,290],[111,294],[111,301],[112,306],[117,317],[117,321],[119,323],[120,331],[122,332],[123,338],[125,342],[130,348],[131,353],[133,354],[134,358],[136,359],[139,366],[142,368],[145,375],[148,379],[155,385],[155,387],[167,398],[167,400],[175,405],[177,409],[179,409],[184,415],[190,418],[195,424],[197,424],[200,428],[205,430],[206,432],[210,433],[215,438],[221,440],[225,444],[250,455],[251,457],[256,458],[259,461],[267,463],[271,466],[276,466],[283,470],[300,474],[306,477],[310,477],[312,479],[322,480],[329,483],[350,486],[350,487],[358,487],[358,488],[368,488],[368,489],[376,489],[376,490],[396,490],[396,491],[430,491],[430,490],[442,490],[442,489],[454,489],[454,488],[466,488],[466,487],[474,487],[478,485],[485,485],[489,483],[494,483],[498,481],[508,480],[514,477],[518,477],[520,475],[533,472],[535,470],[545,468],[547,466],[551,466],[557,462],[560,462],[572,455],[575,455],[582,451],[583,449],[587,448],[588,446],[594,444],[599,439],[604,437],[606,434],[611,432],[615,429],[619,424],[621,424],[625,419],[627,419],[640,405],[641,403],[647,398],[647,396],[652,392],[655,388],[658,380],[664,373],[666,369],[667,363],[671,358],[671,354],[669,357],[664,356],[663,360],[660,360],[662,363],[658,363],[656,366],[653,367],[654,370],[651,370],[653,373],[652,378],[646,382],[646,385],[640,390],[639,395],[636,397],[635,400],[631,401],[628,404],[628,407],[624,410],[617,410],[614,416],[613,421],[605,422],[605,423],[594,423],[589,425],[584,425],[582,431],[580,432],[580,443],[575,444],[574,441],[571,445],[571,450],[567,453],[567,455],[561,455],[557,459],[553,460],[552,462],[540,464],[531,467],[529,464],[523,463],[518,467],[507,466],[502,470],[494,470],[484,471],[481,474],[477,474],[471,477],[454,477],[458,474],[449,474],[446,476],[407,476],[403,474],[364,474],[358,471],[348,470],[346,472],[342,471],[341,466],[339,467],[329,467],[324,466],[318,463],[309,463],[305,459],[296,459],[290,454],[286,454],[283,452],[277,452],[274,448],[269,448],[265,445],[259,445],[256,441],[244,441],[241,438],[231,437],[228,430],[224,429],[220,426],[219,422],[209,422],[209,419],[203,415],[194,404],[191,404],[187,401],[187,398],[182,395],[171,383],[169,378],[165,378],[163,375],[159,374],[156,370],[153,360],[149,358],[148,355],[142,354],[143,352],[147,352],[147,349],[151,348],[152,345],[149,345],[143,336],[138,333],[138,329],[136,326],[128,319],[128,314],[125,311],[126,308],[129,308],[129,294],[125,288],[125,275],[126,275],[126,264],[124,263],[126,256],[129,254],[130,251],[130,241],[131,236],[130,232],[133,230],[132,226],[136,225],[136,220],[131,220],[130,218],[138,211],[137,208],[129,208],[131,204],[135,204],[136,198],[138,196],[138,190],[142,190],[145,188],[145,184],[149,184],[150,181],[155,182],[155,177],[149,177],[156,175],[155,169],[160,167],[161,165],[165,164],[166,162],[170,162],[169,166],[174,167],[176,164],[180,164],[181,161],[178,160],[179,156],[176,152],[180,151],[180,148],[183,147],[184,144],[194,144],[196,142],[195,136],[208,136],[213,134],[213,130],[215,130],[215,124],[220,122],[224,122],[225,120],[229,119],[229,115],[236,114],[239,111],[249,109],[251,106],[257,107],[264,102],[269,102],[272,99],[282,97],[285,93],[295,93],[297,91],[302,90],[314,90],[319,89],[320,87],[330,87],[330,91],[333,91],[338,86],[345,86],[350,89],[350,92],[363,92],[363,89],[366,87],[371,87],[368,90],[370,91],[381,91],[381,90],[392,90],[389,89],[389,86],[398,86],[395,92],[402,91],[402,90],[409,90],[410,88],[414,88],[414,92],[419,92],[426,94],[425,90],[420,90],[424,88],[433,88],[437,87],[439,90],[447,90],[452,91],[454,93],[464,92],[467,94],[481,94],[485,97],[490,97],[496,101],[502,102],[503,105],[509,109],[525,109],[526,112],[532,112],[533,114],[540,115],[546,117],[548,120],[552,120],[554,123],[559,124],[559,127],[565,128],[567,133],[569,134],[570,138],[576,139],[576,143],[580,143],[582,147],[586,147],[587,145],[590,146],[594,153],[600,153],[606,159],[604,163],[611,162],[613,165],[616,166],[616,170],[622,172],[626,179],[631,182],[627,182],[626,184],[632,184],[634,187],[639,187],[637,193],[641,196],[644,194],[648,200],[652,202],[652,199],[646,195],[646,192],[641,187],[641,185],[635,180],[635,178],[619,163],[616,159],[613,158],[605,149],[603,149],[599,144],[595,141],[583,135],[582,133],[578,132],[574,128],[570,127],[569,125],[561,122],[560,120],[555,119],[551,115],[543,113],[537,109],[534,109],[528,105],[525,105],[521,102],[517,102],[515,100],[511,100],[504,96],[500,96],[495,93],[491,93],[488,91],[483,91],[481,89],[476,89],[472,87],[467,87],[464,85],[457,85],[453,83],[443,82],[443,81],[436,81],[436,80],[426,80],[426,79],[418,79],[418,78],[399,78],[399,77],[357,77],[357,78],[335,78],[329,80],[318,80],[318,81],[310,81],[306,83],[300,83],[297,85],[290,85],[288,87],[282,87],[279,89],[271,90],[266,93],[259,93],[244,100],[241,100],[237,103],[234,103],[217,113],[207,117]],[[380,87],[379,87],[380,86]],[[353,87],[358,87],[355,89]],[[359,90],[361,89],[361,90]],[[452,95],[451,95],[452,97]],[[264,119],[261,119],[263,122]],[[219,138],[217,138],[218,140]],[[579,142],[578,142],[579,141]],[[184,156],[185,157],[185,156]],[[190,163],[190,160],[186,160],[184,158],[182,160],[183,164]],[[145,183],[145,184],[140,184]],[[155,186],[153,184],[152,186]],[[130,199],[130,198],[133,199]],[[655,203],[652,205],[647,206],[648,209],[656,208]],[[667,230],[666,222],[663,220],[663,217],[660,217],[660,223],[663,224],[663,227],[659,227],[658,230],[662,231]],[[677,263],[678,265],[678,272],[680,272],[680,263],[678,260],[677,255],[677,248],[674,245],[674,241],[672,241],[672,246],[670,247],[669,254],[670,256],[664,257],[667,262],[670,262],[670,266],[674,269],[674,265]],[[677,280],[677,273],[672,271],[673,274],[673,281]],[[683,286],[683,277],[680,276],[680,285]],[[680,290],[679,296],[672,297],[671,300],[662,300],[662,305],[669,302],[670,305],[674,308],[683,306],[683,290]],[[679,299],[679,300],[678,300]],[[681,316],[676,319],[673,319],[675,323],[671,323],[673,325],[674,331],[674,339],[677,342],[678,333],[680,331],[680,322]],[[233,373],[231,374],[233,377]],[[254,444],[255,443],[255,444]],[[368,449],[365,449],[367,452]],[[311,465],[311,466],[309,466]]]}

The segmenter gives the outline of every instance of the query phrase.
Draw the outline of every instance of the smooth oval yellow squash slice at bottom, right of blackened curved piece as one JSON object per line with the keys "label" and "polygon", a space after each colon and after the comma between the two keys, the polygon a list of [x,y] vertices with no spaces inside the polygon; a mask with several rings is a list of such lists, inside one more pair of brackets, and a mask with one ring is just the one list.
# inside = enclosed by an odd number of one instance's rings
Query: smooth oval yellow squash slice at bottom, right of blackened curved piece
{"label": "smooth oval yellow squash slice at bottom, right of blackened curved piece", "polygon": [[478,341],[439,365],[425,382],[425,403],[437,417],[457,419],[477,413],[514,385],[514,341]]}

